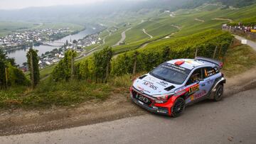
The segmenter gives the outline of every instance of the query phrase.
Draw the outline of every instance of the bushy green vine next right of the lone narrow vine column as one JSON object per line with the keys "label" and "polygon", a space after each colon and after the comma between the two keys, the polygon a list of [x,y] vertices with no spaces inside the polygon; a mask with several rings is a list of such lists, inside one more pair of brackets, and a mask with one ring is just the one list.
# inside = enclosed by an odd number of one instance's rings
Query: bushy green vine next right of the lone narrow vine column
{"label": "bushy green vine next right of the lone narrow vine column", "polygon": [[68,81],[71,78],[71,61],[75,57],[76,52],[74,50],[68,50],[65,52],[63,60],[58,62],[53,69],[53,79],[57,81]]}

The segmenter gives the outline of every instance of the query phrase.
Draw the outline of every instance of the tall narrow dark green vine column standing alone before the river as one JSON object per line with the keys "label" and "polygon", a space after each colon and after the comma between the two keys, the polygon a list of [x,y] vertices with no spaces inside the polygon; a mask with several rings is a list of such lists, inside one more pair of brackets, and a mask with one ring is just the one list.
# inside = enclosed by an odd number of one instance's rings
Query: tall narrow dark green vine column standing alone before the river
{"label": "tall narrow dark green vine column standing alone before the river", "polygon": [[28,70],[30,71],[31,84],[32,88],[35,88],[36,85],[40,82],[40,73],[38,67],[38,50],[33,50],[30,48],[27,52],[27,62],[28,62]]}

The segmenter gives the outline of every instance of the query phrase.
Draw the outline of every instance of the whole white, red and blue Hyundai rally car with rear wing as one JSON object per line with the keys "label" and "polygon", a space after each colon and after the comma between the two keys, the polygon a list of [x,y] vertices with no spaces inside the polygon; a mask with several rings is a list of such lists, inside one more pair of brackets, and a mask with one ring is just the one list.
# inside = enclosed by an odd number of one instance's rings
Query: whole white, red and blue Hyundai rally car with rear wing
{"label": "whole white, red and blue Hyundai rally car with rear wing", "polygon": [[177,117],[190,104],[223,98],[222,67],[222,62],[205,57],[164,62],[135,79],[130,96],[148,111]]}

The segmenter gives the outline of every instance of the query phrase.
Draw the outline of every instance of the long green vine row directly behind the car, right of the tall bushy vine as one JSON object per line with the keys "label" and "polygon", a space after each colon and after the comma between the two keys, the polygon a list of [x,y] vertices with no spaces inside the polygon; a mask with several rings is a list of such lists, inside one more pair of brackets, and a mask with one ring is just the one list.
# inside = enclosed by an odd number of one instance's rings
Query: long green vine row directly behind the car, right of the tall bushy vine
{"label": "long green vine row directly behind the car, right of the tall bushy vine", "polygon": [[[196,35],[184,38],[176,38],[166,41],[166,43],[152,43],[144,49],[139,50],[137,56],[136,72],[149,72],[161,64],[171,59],[193,58],[196,48],[198,56],[213,57],[215,47],[218,47],[218,57],[223,57],[230,45],[233,36],[222,31],[205,31]],[[113,60],[112,74],[122,75],[132,72],[130,65],[134,65],[134,51],[119,55]]]}

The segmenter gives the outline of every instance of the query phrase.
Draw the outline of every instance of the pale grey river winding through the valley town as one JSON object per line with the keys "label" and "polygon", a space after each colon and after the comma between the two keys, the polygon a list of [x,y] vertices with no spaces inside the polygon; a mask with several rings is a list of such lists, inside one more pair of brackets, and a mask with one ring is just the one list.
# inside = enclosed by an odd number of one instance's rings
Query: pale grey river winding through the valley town
{"label": "pale grey river winding through the valley town", "polygon": [[[65,38],[61,38],[60,40],[55,40],[53,42],[48,43],[49,45],[54,45],[54,46],[40,45],[40,46],[34,46],[33,48],[38,50],[38,55],[41,56],[45,52],[51,51],[55,48],[60,48],[63,45],[63,43],[66,42],[66,40],[68,41],[70,41],[70,39],[79,40],[84,38],[86,35],[97,33],[98,31],[99,30],[95,28],[88,27],[84,31],[80,31],[80,33],[77,33],[75,35],[68,35]],[[23,62],[26,62],[26,52],[28,52],[28,48],[7,52],[7,56],[14,58],[16,64],[22,66]]]}

